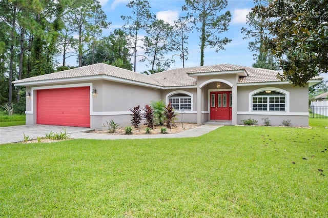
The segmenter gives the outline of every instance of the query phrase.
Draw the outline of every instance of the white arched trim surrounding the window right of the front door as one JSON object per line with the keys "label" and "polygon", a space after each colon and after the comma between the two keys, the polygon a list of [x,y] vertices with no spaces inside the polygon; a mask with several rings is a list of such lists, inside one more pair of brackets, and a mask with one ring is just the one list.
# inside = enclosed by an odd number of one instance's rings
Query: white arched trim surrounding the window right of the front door
{"label": "white arched trim surrounding the window right of the front door", "polygon": [[[276,91],[276,92],[280,92],[282,94],[285,95],[285,110],[284,111],[274,111],[274,110],[260,110],[260,111],[253,111],[253,95],[259,92],[263,92],[266,90],[271,90],[271,91]],[[281,113],[289,113],[290,112],[290,93],[289,91],[280,89],[280,88],[276,88],[276,87],[263,87],[263,88],[259,88],[256,89],[252,92],[249,93],[249,112],[252,114],[268,114],[268,115],[277,115],[277,114],[281,114]]]}

